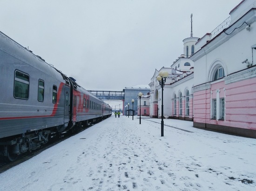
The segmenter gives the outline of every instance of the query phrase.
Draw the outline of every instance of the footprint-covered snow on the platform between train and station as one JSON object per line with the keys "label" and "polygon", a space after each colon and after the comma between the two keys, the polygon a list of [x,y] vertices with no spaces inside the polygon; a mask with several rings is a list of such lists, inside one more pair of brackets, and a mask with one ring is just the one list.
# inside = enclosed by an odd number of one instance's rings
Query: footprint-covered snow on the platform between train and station
{"label": "footprint-covered snow on the platform between train and station", "polygon": [[253,191],[256,139],[120,116],[0,174],[1,191]]}

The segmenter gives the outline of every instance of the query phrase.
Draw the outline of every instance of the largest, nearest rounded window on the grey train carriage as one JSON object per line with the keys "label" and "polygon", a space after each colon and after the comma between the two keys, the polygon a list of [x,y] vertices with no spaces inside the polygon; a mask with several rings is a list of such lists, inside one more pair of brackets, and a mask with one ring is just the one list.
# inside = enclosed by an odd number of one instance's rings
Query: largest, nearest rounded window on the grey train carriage
{"label": "largest, nearest rounded window on the grey train carriage", "polygon": [[14,97],[28,99],[29,76],[21,71],[15,71]]}

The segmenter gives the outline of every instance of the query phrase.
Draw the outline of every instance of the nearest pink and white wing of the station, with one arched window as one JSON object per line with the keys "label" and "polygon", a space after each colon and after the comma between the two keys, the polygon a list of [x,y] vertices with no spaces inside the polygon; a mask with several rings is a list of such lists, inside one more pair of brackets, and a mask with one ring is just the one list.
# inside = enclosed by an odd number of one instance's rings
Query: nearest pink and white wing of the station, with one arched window
{"label": "nearest pink and white wing of the station, with one arched window", "polygon": [[194,127],[256,138],[255,6],[256,0],[243,0],[230,12],[225,30],[196,44],[190,57]]}

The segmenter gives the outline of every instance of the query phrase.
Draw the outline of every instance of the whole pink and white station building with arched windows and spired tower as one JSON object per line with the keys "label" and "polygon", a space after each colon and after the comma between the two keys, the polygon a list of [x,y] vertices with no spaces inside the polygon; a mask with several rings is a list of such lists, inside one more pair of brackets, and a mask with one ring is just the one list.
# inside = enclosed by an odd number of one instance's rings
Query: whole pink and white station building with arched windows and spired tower
{"label": "whole pink and white station building with arched windows and spired tower", "polygon": [[[166,118],[256,138],[256,0],[242,0],[229,14],[202,38],[184,39],[170,68],[155,70],[151,117],[161,118],[163,92]],[[163,91],[156,80],[162,70],[168,71]]]}

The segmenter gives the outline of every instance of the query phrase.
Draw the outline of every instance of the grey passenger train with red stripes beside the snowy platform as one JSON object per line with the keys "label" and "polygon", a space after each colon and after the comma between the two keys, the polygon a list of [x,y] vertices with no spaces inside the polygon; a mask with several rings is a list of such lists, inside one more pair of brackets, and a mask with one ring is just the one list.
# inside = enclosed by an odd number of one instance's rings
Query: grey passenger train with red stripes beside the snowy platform
{"label": "grey passenger train with red stripes beside the snowy platform", "polygon": [[13,161],[112,108],[0,32],[0,156]]}

